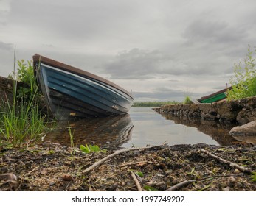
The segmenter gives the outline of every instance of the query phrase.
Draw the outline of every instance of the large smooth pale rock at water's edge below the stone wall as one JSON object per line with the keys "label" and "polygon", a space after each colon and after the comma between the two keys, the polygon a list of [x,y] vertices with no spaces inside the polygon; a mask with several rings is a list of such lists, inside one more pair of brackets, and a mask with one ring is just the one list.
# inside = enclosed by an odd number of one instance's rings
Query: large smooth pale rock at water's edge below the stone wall
{"label": "large smooth pale rock at water's edge below the stone wall", "polygon": [[229,133],[230,135],[256,136],[256,121],[233,127]]}

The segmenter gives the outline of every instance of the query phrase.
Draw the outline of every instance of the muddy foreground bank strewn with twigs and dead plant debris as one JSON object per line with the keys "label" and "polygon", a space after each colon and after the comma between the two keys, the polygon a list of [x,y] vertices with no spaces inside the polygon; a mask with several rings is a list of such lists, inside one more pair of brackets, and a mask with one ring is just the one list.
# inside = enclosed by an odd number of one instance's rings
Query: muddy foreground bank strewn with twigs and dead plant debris
{"label": "muddy foreground bank strewn with twigs and dead plant debris", "polygon": [[[223,163],[205,151],[246,170]],[[117,154],[85,172],[113,153],[85,154],[46,143],[22,151],[1,149],[0,190],[138,191],[139,185],[142,191],[256,191],[250,174],[256,171],[253,146],[155,146]],[[180,182],[184,183],[178,187]]]}

